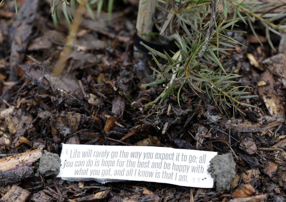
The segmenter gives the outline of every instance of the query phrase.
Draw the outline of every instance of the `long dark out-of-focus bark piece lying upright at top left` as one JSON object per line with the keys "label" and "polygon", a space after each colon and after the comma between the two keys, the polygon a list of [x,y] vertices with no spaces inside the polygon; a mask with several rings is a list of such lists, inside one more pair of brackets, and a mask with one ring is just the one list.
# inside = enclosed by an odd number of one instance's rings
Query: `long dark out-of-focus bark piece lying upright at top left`
{"label": "long dark out-of-focus bark piece lying upright at top left", "polygon": [[29,37],[32,33],[33,21],[35,21],[39,0],[26,0],[21,5],[16,15],[14,37],[11,45],[10,55],[10,81],[16,81],[18,66],[23,62]]}

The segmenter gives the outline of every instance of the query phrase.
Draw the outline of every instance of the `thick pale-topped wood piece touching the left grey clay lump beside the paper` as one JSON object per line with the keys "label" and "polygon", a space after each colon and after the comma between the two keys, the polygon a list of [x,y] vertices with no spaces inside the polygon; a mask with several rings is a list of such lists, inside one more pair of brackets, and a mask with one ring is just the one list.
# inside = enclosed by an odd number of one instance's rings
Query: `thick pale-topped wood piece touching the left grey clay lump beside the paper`
{"label": "thick pale-topped wood piece touching the left grey clay lump beside the paper", "polygon": [[32,164],[42,157],[42,150],[35,149],[0,159],[0,186],[14,184],[34,175]]}

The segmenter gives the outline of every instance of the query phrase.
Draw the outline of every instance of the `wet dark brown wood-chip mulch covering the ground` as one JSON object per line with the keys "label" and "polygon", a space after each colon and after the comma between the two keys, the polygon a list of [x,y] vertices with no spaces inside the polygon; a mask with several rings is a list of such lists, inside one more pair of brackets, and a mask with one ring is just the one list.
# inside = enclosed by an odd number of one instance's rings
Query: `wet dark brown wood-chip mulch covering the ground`
{"label": "wet dark brown wood-chip mulch covering the ground", "polygon": [[[226,71],[249,86],[257,107],[245,115],[220,113],[206,93],[187,84],[161,104],[149,66],[152,57],[133,59],[138,2],[114,2],[111,19],[84,17],[65,72],[51,72],[68,28],[56,29],[46,1],[4,1],[0,6],[0,196],[2,201],[286,201],[286,44],[257,22],[261,46],[250,28],[230,33],[245,44],[220,58]],[[243,30],[242,28],[246,29]],[[167,63],[160,60],[161,63]],[[128,97],[128,98],[126,98]],[[130,101],[128,100],[130,99]],[[229,109],[232,115],[232,109]],[[140,145],[229,153],[236,176],[229,190],[192,188],[143,181],[100,184],[35,175],[42,150],[61,153],[61,143]],[[13,158],[29,155],[25,165]],[[20,156],[17,156],[21,154]],[[14,157],[9,157],[13,156]],[[10,160],[11,159],[11,160]],[[136,180],[136,179],[135,179]],[[0,201],[1,201],[0,200]]]}

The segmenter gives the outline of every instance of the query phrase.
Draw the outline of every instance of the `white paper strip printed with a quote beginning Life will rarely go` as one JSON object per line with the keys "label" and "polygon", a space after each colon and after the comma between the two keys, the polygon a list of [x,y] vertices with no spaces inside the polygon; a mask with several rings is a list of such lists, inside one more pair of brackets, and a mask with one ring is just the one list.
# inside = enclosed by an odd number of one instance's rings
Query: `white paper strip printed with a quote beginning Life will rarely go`
{"label": "white paper strip printed with a quote beginning Life will rarely go", "polygon": [[149,146],[63,144],[60,173],[64,180],[149,181],[212,188],[207,172],[217,152]]}

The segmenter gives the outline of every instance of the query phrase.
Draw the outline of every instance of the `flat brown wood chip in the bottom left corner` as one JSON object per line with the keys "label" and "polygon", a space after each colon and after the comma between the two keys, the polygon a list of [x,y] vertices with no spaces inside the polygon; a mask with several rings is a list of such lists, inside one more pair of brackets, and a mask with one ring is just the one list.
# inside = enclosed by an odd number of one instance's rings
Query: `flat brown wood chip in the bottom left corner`
{"label": "flat brown wood chip in the bottom left corner", "polygon": [[30,192],[13,185],[11,189],[0,199],[0,202],[25,202]]}

